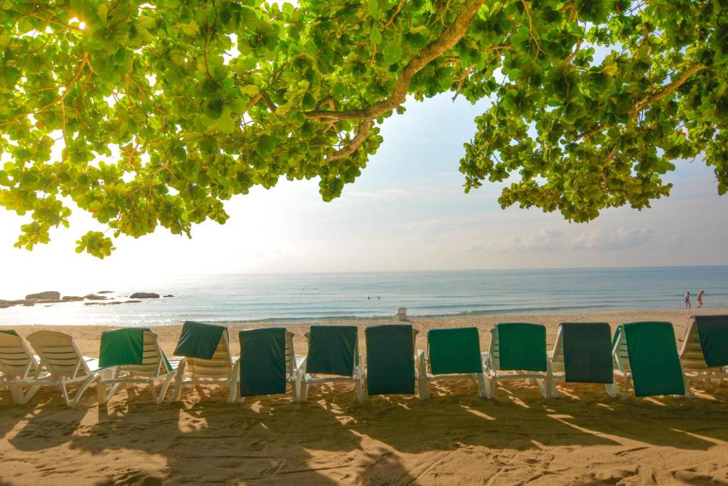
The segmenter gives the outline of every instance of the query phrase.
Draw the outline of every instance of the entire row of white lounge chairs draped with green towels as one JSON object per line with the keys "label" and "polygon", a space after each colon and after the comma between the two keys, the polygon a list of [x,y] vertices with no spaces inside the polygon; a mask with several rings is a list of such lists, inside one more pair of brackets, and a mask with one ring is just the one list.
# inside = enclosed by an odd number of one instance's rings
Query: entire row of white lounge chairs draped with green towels
{"label": "entire row of white lounge chairs draped with green towels", "polygon": [[[364,365],[356,326],[311,326],[307,356],[296,356],[285,328],[244,330],[234,358],[226,327],[188,321],[174,352],[181,358],[173,360],[149,329],[103,332],[98,360],[82,356],[67,334],[33,332],[26,338],[33,354],[16,332],[0,331],[0,387],[24,404],[41,386],[53,386],[71,405],[92,383],[99,404],[122,385],[127,393],[149,385],[156,403],[173,384],[173,401],[185,386],[224,385],[233,403],[286,393],[289,383],[293,398],[305,401],[312,383],[349,382],[361,402],[416,388],[420,399],[429,399],[432,380],[470,378],[481,397],[492,398],[499,380],[526,379],[550,399],[558,396],[554,380],[602,383],[612,397],[625,396],[632,385],[636,396],[691,396],[689,380],[728,377],[728,315],[692,317],[679,353],[669,322],[622,324],[614,337],[606,323],[562,323],[550,352],[540,324],[496,324],[487,353],[480,352],[475,327],[430,329],[427,350],[415,351],[416,333],[411,324],[368,326]],[[623,390],[615,375],[625,378]],[[78,385],[73,396],[69,385]]]}

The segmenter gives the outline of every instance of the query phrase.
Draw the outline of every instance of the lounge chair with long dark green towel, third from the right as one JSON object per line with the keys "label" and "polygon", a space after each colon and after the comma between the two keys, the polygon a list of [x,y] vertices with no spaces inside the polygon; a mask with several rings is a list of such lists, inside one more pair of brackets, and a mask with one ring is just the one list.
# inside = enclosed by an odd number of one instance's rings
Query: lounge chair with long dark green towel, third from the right
{"label": "lounge chair with long dark green towel, third from the right", "polygon": [[549,353],[554,379],[604,383],[612,398],[618,389],[612,364],[612,328],[606,322],[562,322]]}

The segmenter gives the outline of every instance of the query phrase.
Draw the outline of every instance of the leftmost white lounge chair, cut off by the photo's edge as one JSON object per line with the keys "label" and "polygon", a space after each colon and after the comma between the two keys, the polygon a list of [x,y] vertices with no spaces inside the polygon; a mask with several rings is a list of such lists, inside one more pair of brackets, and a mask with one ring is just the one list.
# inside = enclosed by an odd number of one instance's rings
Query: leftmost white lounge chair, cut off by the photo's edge
{"label": "leftmost white lounge chair, cut off by the photo's edge", "polygon": [[49,376],[15,331],[0,331],[0,372],[12,401],[19,405],[28,403],[39,391],[41,385],[35,382]]}

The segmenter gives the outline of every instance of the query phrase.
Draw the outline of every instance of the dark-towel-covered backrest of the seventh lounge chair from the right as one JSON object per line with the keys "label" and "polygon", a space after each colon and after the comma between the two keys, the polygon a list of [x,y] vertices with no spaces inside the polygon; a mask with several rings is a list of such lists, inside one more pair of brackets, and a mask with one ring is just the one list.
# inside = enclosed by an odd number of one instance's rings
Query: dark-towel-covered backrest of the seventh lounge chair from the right
{"label": "dark-towel-covered backrest of the seventh lounge chair from the right", "polygon": [[357,334],[357,326],[311,326],[306,334],[309,340],[306,372],[354,376],[359,357]]}

